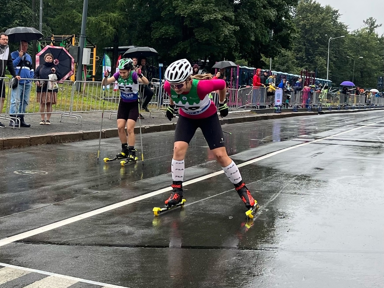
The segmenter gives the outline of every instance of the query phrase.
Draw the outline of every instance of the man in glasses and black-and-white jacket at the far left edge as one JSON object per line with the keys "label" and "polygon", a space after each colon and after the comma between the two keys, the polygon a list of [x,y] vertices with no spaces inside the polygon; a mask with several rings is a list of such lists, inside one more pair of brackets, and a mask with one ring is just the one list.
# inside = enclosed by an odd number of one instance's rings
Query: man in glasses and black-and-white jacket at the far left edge
{"label": "man in glasses and black-and-white jacket at the far left edge", "polygon": [[[9,72],[16,80],[20,80],[20,76],[16,75],[13,69],[12,57],[8,46],[8,35],[0,33],[0,78],[5,77],[5,67],[8,67]],[[0,79],[0,113],[3,112],[5,101],[5,83]],[[5,128],[5,125],[0,122],[0,128]]]}

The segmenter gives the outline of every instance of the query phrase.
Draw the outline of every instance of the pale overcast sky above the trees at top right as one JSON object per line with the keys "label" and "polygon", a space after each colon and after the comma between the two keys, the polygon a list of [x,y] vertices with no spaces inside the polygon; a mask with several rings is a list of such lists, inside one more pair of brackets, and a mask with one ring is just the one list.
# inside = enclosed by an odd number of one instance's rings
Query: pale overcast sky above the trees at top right
{"label": "pale overcast sky above the trees at top right", "polygon": [[362,20],[373,17],[378,23],[383,24],[377,29],[377,33],[379,35],[384,33],[384,0],[317,0],[317,2],[338,9],[341,22],[348,25],[350,31],[361,28],[364,25]]}

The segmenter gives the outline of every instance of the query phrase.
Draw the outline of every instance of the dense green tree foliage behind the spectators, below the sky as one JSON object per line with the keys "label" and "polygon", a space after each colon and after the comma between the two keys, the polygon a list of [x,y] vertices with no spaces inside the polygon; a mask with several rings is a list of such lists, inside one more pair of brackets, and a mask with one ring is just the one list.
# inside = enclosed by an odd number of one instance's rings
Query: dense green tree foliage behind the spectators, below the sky
{"label": "dense green tree foliage behind the spectators, below the sky", "polygon": [[[0,30],[38,27],[32,3],[0,0]],[[45,36],[80,34],[83,0],[43,0],[43,5]],[[104,0],[89,1],[87,15],[87,37],[99,56],[101,48],[113,46],[113,63],[118,46],[137,45],[155,48],[164,65],[180,58],[209,63],[225,58],[269,69],[271,57],[273,70],[306,69],[326,78],[328,39],[345,35],[330,42],[329,78],[335,84],[353,78],[353,60],[346,56],[356,60],[359,86],[376,86],[384,73],[384,39],[376,33],[381,24],[371,17],[348,33],[338,10],[314,0]]]}

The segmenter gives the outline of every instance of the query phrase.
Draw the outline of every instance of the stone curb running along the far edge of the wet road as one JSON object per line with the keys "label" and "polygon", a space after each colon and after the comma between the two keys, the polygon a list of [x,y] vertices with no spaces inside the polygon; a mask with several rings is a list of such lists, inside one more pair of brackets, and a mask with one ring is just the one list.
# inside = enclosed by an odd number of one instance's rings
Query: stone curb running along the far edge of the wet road
{"label": "stone curb running along the far edge of the wet road", "polygon": [[[384,108],[367,108],[367,109],[348,109],[348,110],[323,110],[324,114],[339,114],[339,113],[357,113],[364,111],[376,111],[384,110]],[[318,115],[317,111],[313,112],[282,112],[282,113],[268,113],[268,114],[256,114],[255,116],[243,116],[236,118],[219,119],[221,124],[235,124],[242,122],[252,122],[260,120],[281,119],[295,116],[309,116]],[[154,124],[141,127],[141,133],[163,132],[175,130],[176,123],[167,124]],[[139,127],[135,127],[134,133],[139,134]],[[98,131],[78,131],[78,132],[58,132],[45,135],[35,136],[22,136],[22,137],[10,137],[0,138],[0,150],[11,148],[22,148],[28,146],[44,145],[44,144],[58,144],[67,143],[81,140],[99,139],[100,130]],[[101,131],[101,138],[118,137],[117,128],[103,129]]]}

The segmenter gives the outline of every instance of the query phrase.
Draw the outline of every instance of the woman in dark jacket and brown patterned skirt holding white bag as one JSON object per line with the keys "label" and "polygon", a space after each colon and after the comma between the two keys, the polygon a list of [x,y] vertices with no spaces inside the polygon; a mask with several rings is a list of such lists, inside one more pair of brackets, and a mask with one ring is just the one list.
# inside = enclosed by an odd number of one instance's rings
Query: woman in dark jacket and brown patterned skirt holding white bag
{"label": "woman in dark jacket and brown patterned skirt holding white bag", "polygon": [[[58,80],[61,79],[61,73],[58,67],[53,63],[53,55],[46,53],[44,55],[44,64],[39,65],[35,71],[35,79],[50,79],[51,74],[55,74]],[[36,81],[36,102],[40,103],[40,125],[51,125],[50,118],[52,112],[52,105],[56,104],[58,87],[50,87],[50,81]],[[45,105],[47,119],[45,120]]]}

